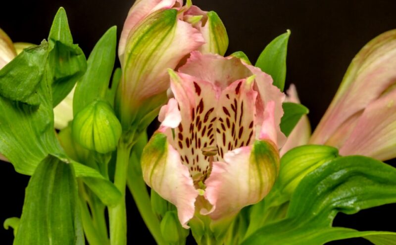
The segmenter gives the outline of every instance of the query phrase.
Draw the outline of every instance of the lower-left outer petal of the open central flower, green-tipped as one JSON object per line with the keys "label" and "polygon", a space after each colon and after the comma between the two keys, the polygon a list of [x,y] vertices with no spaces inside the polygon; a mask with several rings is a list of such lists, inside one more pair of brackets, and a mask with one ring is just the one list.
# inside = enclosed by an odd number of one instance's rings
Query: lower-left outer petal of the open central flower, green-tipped
{"label": "lower-left outer petal of the open central flower, green-tipped", "polygon": [[198,191],[179,153],[167,142],[163,133],[155,133],[142,154],[143,178],[162,198],[177,207],[184,228],[194,216]]}

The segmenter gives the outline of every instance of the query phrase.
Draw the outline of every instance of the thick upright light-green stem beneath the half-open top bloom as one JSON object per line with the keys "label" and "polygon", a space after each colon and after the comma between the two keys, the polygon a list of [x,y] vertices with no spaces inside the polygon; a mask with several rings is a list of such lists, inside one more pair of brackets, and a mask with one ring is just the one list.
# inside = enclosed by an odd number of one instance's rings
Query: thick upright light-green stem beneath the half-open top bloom
{"label": "thick upright light-green stem beneath the half-open top bloom", "polygon": [[125,188],[131,147],[120,140],[117,148],[117,162],[115,165],[114,185],[122,194],[121,201],[108,208],[110,223],[110,244],[127,244],[127,216],[125,206]]}

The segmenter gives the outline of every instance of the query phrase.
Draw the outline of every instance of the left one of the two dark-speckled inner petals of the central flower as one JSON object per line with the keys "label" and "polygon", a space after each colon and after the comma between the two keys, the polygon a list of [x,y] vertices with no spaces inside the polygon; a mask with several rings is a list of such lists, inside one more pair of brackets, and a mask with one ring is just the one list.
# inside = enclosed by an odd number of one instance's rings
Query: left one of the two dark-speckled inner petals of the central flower
{"label": "left one of the two dark-speckled inner petals of the central flower", "polygon": [[169,142],[180,153],[182,163],[190,169],[194,180],[198,180],[209,169],[208,157],[202,148],[215,146],[216,108],[219,89],[183,73],[170,72],[171,89],[177,100],[182,123],[174,129]]}

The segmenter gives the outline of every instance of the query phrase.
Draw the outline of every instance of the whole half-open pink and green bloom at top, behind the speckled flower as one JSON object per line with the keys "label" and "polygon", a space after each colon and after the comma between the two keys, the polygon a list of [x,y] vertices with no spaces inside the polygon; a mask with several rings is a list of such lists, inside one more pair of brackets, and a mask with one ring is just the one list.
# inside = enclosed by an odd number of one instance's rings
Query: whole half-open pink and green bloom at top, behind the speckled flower
{"label": "whole half-open pink and green bloom at top, behind the speckled flower", "polygon": [[[166,102],[167,69],[185,62],[193,50],[223,55],[228,38],[214,12],[182,0],[137,0],[128,13],[119,42],[122,79],[115,110],[125,130],[145,128],[144,118]],[[143,106],[144,105],[144,106]],[[142,123],[141,121],[145,123]]]}

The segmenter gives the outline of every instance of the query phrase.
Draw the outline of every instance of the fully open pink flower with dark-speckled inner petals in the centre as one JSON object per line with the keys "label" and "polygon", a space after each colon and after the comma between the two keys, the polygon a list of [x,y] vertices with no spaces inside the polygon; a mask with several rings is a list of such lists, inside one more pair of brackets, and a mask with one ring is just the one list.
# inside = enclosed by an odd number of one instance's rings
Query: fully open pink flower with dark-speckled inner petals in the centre
{"label": "fully open pink flower with dark-speckled inner petals in the centre", "polygon": [[196,212],[219,220],[259,202],[278,174],[284,94],[235,57],[196,51],[169,73],[175,98],[143,151],[146,183],[184,227]]}

